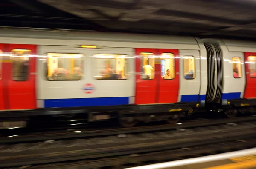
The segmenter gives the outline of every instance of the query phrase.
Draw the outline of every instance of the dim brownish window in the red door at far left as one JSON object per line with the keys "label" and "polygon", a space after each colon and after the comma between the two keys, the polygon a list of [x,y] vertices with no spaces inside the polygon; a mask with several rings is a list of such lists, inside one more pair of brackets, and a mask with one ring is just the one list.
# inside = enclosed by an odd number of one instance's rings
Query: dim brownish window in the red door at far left
{"label": "dim brownish window in the red door at far left", "polygon": [[13,49],[10,59],[12,60],[12,80],[26,81],[29,77],[29,58],[31,50]]}

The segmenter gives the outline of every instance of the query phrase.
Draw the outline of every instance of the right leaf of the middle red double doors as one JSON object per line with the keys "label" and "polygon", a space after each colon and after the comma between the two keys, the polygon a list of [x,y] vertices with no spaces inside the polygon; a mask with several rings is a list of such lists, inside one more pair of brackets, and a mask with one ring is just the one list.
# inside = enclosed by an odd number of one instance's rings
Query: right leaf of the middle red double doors
{"label": "right leaf of the middle red double doors", "polygon": [[[158,49],[160,55],[161,69],[158,87],[158,103],[176,103],[179,95],[179,60],[175,56],[179,55],[177,49]],[[163,77],[169,70],[169,79]]]}

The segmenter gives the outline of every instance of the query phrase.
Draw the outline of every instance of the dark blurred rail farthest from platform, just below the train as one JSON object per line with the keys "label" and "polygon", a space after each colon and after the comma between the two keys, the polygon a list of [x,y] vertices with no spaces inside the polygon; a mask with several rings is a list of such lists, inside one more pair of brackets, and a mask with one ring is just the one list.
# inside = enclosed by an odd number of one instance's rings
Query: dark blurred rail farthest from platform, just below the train
{"label": "dark blurred rail farthest from platform, just below the train", "polygon": [[93,129],[76,129],[71,128],[67,130],[59,131],[47,131],[47,132],[38,132],[31,134],[19,135],[18,133],[13,133],[7,137],[0,137],[0,143],[22,143],[22,142],[35,142],[35,141],[44,141],[44,140],[61,140],[61,139],[73,139],[76,138],[88,138],[88,137],[104,137],[108,135],[122,135],[122,134],[136,134],[141,132],[157,132],[157,131],[166,131],[182,127],[193,128],[200,126],[208,125],[218,125],[224,123],[236,123],[240,121],[250,121],[256,120],[256,116],[246,116],[246,117],[234,117],[234,118],[219,118],[214,120],[189,120],[189,122],[184,121],[181,123],[175,124],[165,124],[165,125],[151,125],[151,126],[140,126],[132,128],[119,128],[111,127],[111,129],[98,128]]}

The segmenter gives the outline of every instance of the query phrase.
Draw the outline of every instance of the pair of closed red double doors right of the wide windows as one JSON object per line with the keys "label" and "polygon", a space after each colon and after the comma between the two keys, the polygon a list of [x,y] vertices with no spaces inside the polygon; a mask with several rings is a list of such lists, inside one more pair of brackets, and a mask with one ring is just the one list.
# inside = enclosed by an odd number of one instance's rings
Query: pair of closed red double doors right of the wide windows
{"label": "pair of closed red double doors right of the wide windows", "polygon": [[[136,58],[136,94],[135,104],[175,103],[179,90],[179,62],[176,49],[135,49]],[[157,58],[155,58],[157,56]],[[143,69],[143,65],[151,67],[152,74]],[[167,70],[170,78],[163,79]],[[143,72],[143,73],[141,73]],[[142,74],[142,75],[141,75]],[[144,76],[144,77],[143,77]],[[172,76],[172,77],[171,77]]]}

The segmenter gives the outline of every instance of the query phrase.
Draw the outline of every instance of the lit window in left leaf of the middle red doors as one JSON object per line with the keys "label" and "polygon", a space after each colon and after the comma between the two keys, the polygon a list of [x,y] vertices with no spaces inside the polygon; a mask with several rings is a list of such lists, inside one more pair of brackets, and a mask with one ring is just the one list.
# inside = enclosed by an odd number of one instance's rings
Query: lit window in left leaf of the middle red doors
{"label": "lit window in left leaf of the middle red doors", "polygon": [[154,79],[154,54],[150,52],[140,53],[140,78],[143,80]]}

